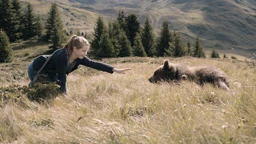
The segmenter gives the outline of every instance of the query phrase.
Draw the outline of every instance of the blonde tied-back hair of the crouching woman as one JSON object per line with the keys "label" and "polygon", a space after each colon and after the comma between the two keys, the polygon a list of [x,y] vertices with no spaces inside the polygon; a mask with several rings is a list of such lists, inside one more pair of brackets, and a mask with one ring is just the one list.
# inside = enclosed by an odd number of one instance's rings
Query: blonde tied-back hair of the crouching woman
{"label": "blonde tied-back hair of the crouching woman", "polygon": [[76,47],[77,49],[82,48],[84,45],[88,45],[90,46],[90,44],[88,43],[88,40],[86,40],[84,37],[82,36],[76,36],[73,35],[68,42],[65,44],[64,48],[68,49],[68,53],[72,54],[73,48]]}

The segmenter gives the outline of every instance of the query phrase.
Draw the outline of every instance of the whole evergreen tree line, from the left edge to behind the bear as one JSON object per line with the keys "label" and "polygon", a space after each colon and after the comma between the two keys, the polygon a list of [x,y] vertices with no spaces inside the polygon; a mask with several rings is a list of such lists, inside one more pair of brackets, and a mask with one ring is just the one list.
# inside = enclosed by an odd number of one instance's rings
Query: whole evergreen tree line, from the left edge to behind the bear
{"label": "whole evergreen tree line, from the left edge to behind the bear", "polygon": [[[58,5],[53,3],[48,12],[46,24],[42,24],[39,15],[35,15],[33,7],[28,3],[21,10],[19,0],[0,1],[0,62],[11,61],[10,42],[28,40],[34,36],[51,42],[51,48],[62,47],[68,32],[58,11]],[[179,32],[171,32],[168,22],[162,24],[159,38],[155,38],[154,30],[147,18],[143,28],[135,14],[125,16],[120,10],[116,20],[107,26],[101,17],[97,19],[91,41],[91,53],[97,57],[124,56],[194,56],[205,57],[199,38],[191,47],[188,40],[185,45]],[[70,32],[73,34],[73,32]],[[87,33],[76,32],[77,35],[89,37]]]}

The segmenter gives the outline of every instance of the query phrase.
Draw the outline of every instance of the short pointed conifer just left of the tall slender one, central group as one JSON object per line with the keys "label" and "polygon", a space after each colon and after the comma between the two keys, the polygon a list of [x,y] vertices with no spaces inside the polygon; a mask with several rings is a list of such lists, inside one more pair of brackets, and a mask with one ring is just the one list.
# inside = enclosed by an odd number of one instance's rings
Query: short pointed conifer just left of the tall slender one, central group
{"label": "short pointed conifer just left of the tall slender one, central group", "polygon": [[136,37],[134,39],[133,55],[141,57],[147,56],[139,32],[137,32]]}

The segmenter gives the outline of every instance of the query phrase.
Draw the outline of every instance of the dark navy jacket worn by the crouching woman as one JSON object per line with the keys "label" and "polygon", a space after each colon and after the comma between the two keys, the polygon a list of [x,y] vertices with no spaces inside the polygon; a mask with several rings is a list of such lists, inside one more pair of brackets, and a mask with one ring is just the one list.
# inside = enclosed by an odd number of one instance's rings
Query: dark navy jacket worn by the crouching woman
{"label": "dark navy jacket worn by the crouching woman", "polygon": [[[33,61],[33,71],[39,71],[42,65],[46,62],[47,58],[50,55],[42,55],[38,56]],[[69,58],[70,55],[67,52],[66,48],[57,49],[54,53],[52,58],[49,60],[48,64],[43,69],[43,72],[48,73],[50,76],[57,74],[57,79],[59,82],[58,85],[62,88],[66,88],[66,74],[68,74],[69,70]],[[90,60],[87,56],[84,56],[82,59],[75,59],[75,64],[73,65],[70,72],[78,69],[79,65],[88,66],[90,68],[94,68],[96,70],[104,71],[113,73],[113,68],[111,65],[96,62]]]}

